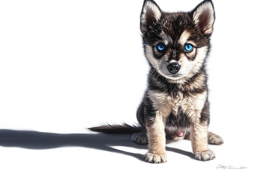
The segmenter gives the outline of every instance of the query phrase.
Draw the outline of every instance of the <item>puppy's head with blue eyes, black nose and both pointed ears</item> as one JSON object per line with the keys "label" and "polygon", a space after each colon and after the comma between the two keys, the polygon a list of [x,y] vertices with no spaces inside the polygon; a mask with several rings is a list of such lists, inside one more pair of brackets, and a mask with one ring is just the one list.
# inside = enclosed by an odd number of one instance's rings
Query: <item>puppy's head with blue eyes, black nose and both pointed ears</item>
{"label": "puppy's head with blue eyes, black nose and both pointed ears", "polygon": [[215,20],[211,0],[189,12],[167,13],[145,0],[140,29],[148,62],[164,77],[182,81],[198,73],[208,55]]}

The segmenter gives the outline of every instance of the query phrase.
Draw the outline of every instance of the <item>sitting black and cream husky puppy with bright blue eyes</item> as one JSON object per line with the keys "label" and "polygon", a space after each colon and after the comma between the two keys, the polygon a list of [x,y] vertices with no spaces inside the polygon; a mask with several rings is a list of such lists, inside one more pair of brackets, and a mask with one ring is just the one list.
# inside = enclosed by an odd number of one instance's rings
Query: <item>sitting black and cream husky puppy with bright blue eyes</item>
{"label": "sitting black and cream husky puppy with bright blue eyes", "polygon": [[144,159],[150,163],[166,162],[166,137],[190,139],[195,159],[214,159],[207,144],[220,145],[223,140],[208,131],[205,63],[215,20],[213,3],[204,0],[192,11],[169,13],[153,0],[145,0],[140,19],[150,71],[137,110],[139,125],[102,125],[89,129],[133,133],[132,141],[148,144]]}

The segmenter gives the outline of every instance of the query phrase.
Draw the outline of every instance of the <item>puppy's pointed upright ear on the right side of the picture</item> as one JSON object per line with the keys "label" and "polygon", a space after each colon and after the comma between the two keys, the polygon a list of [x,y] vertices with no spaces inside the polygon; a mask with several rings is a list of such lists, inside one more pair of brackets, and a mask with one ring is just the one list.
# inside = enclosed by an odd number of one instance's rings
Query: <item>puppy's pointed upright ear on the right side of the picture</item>
{"label": "puppy's pointed upright ear on the right side of the picture", "polygon": [[213,23],[215,21],[215,12],[211,0],[204,0],[192,11],[193,20],[196,25],[205,33],[213,32]]}

